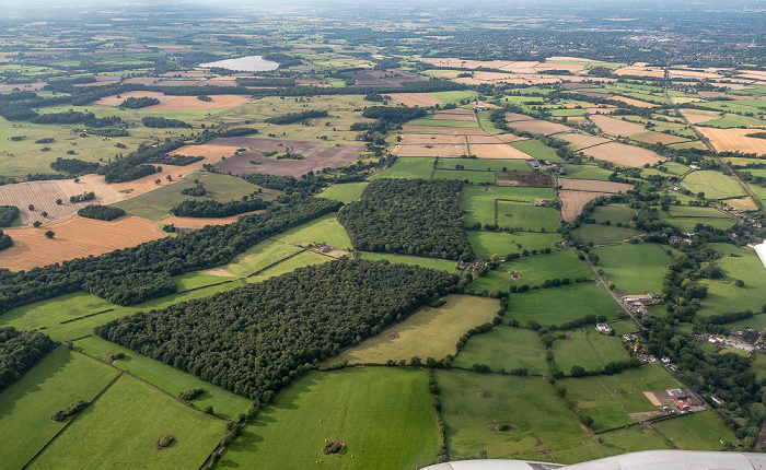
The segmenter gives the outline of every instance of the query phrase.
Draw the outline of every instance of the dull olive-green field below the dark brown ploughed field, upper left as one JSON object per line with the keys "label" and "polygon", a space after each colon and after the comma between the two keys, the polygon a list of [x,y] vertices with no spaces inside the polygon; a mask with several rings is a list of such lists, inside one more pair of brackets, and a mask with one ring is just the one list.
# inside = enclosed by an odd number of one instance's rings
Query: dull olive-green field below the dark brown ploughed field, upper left
{"label": "dull olive-green field below the dark brown ploughed field, upper left", "polygon": [[[205,185],[205,189],[207,190],[206,195],[201,198],[182,195],[182,190],[195,187],[195,179]],[[213,199],[219,202],[228,202],[234,199],[241,199],[243,196],[248,196],[253,191],[257,191],[258,188],[258,186],[251,185],[235,176],[195,172],[176,184],[160,186],[153,191],[136,196],[125,201],[119,201],[113,205],[124,209],[125,212],[138,215],[139,218],[160,221],[170,216],[171,209],[187,199]],[[263,191],[263,195],[259,197],[267,200],[274,199],[279,193],[279,191],[275,191],[274,189],[264,189]]]}

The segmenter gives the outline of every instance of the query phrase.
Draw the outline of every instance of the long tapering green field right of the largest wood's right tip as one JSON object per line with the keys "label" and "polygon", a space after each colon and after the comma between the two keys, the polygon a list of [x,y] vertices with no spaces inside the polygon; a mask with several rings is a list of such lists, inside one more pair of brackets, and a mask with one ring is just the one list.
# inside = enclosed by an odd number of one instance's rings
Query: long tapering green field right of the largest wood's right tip
{"label": "long tapering green field right of the largest wood's right tip", "polygon": [[577,258],[574,250],[525,256],[506,261],[466,286],[468,291],[508,292],[511,285],[542,285],[546,280],[591,278],[591,270]]}

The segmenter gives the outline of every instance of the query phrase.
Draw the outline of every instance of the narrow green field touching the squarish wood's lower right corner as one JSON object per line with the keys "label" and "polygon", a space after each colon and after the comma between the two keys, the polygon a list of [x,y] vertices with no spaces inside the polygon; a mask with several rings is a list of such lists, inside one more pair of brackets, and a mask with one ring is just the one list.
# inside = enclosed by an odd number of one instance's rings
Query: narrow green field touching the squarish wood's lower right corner
{"label": "narrow green field touching the squarish wood's lower right corner", "polygon": [[468,243],[479,258],[489,258],[492,255],[506,256],[524,250],[555,249],[562,242],[557,233],[514,232],[468,232]]}

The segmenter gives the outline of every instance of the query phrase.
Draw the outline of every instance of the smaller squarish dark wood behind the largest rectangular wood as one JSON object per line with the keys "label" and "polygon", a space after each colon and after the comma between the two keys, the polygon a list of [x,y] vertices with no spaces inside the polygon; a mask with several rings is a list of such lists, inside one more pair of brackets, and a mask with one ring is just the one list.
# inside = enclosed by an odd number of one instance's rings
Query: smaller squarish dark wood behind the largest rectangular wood
{"label": "smaller squarish dark wood behind the largest rectangular wood", "polygon": [[338,222],[355,249],[469,261],[463,228],[460,181],[379,179],[359,201],[340,211]]}

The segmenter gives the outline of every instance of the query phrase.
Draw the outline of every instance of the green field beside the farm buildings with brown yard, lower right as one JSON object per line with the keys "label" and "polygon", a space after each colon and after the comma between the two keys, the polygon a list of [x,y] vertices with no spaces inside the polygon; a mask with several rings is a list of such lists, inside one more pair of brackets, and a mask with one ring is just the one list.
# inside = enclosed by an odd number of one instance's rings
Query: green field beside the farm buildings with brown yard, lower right
{"label": "green field beside the farm buildings with brown yard, lower right", "polygon": [[567,395],[578,402],[581,413],[593,419],[591,428],[594,431],[631,424],[630,413],[659,411],[645,391],[680,387],[659,364],[646,364],[615,375],[566,378],[561,384],[567,387]]}

